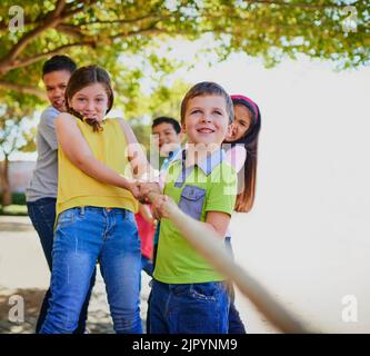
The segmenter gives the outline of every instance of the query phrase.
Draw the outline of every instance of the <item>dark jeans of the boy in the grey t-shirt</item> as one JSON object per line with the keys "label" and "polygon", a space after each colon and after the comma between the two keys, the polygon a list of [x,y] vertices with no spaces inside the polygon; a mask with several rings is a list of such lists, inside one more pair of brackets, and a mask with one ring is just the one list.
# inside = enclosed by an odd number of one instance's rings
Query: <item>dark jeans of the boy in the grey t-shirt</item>
{"label": "dark jeans of the boy in the grey t-shirt", "polygon": [[[52,269],[52,245],[53,245],[53,235],[54,235],[53,226],[56,220],[56,202],[57,202],[56,198],[42,198],[36,201],[27,202],[28,215],[32,221],[34,229],[39,235],[42,250],[50,270]],[[81,309],[78,326],[73,332],[73,334],[83,334],[86,330],[89,300],[94,281],[96,281],[96,271],[92,274],[90,280],[90,288]],[[51,297],[51,291],[49,288],[41,305],[40,315],[36,325],[36,333],[39,333],[41,325],[44,322],[49,308],[50,297]]]}

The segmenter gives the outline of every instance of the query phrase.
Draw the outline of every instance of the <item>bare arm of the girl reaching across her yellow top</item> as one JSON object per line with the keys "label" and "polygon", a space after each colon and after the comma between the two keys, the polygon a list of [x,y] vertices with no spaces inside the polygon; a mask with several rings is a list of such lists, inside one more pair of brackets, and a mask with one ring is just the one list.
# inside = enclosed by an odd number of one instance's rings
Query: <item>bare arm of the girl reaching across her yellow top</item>
{"label": "bare arm of the girl reaching across her yellow top", "polygon": [[138,196],[133,180],[119,175],[93,156],[71,115],[60,113],[56,119],[56,130],[63,152],[76,167],[103,184],[128,189],[134,197]]}

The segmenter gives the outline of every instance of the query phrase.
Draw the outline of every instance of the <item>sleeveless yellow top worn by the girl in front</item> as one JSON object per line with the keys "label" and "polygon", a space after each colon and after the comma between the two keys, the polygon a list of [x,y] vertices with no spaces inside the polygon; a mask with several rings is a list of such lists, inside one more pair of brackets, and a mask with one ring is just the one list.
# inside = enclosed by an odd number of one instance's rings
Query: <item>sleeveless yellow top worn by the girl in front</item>
{"label": "sleeveless yellow top worn by the girl in front", "polygon": [[[103,130],[98,132],[78,118],[76,122],[93,156],[118,174],[130,177],[126,138],[119,120],[107,119],[102,126]],[[129,190],[91,178],[68,159],[59,145],[57,220],[60,212],[82,206],[138,211],[138,201]]]}

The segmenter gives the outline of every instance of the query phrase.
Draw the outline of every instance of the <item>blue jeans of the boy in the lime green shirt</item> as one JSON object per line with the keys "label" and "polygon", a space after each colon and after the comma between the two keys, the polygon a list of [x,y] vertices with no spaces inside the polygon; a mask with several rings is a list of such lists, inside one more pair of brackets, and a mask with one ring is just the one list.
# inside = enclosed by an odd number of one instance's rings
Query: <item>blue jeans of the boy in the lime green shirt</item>
{"label": "blue jeans of the boy in the lime green shirt", "polygon": [[228,314],[222,281],[169,285],[153,280],[150,334],[228,334]]}

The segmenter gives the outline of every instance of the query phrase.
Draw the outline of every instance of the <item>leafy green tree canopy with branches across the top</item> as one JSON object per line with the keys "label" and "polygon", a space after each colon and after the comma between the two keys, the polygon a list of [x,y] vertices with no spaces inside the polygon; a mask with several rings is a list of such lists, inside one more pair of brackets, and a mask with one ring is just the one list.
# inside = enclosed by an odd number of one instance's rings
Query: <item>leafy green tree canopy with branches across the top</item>
{"label": "leafy green tree canopy with branches across the top", "polygon": [[213,42],[203,52],[219,59],[242,51],[272,66],[306,53],[358,67],[369,63],[369,23],[368,0],[2,0],[0,91],[42,98],[42,62],[63,52],[102,65],[133,98],[148,68],[166,76],[179,66],[159,55],[160,42],[204,33]]}

